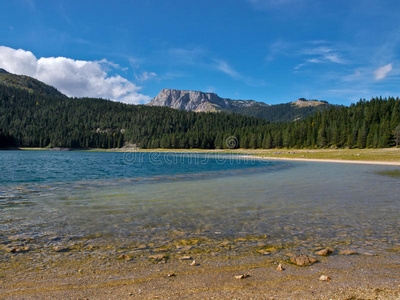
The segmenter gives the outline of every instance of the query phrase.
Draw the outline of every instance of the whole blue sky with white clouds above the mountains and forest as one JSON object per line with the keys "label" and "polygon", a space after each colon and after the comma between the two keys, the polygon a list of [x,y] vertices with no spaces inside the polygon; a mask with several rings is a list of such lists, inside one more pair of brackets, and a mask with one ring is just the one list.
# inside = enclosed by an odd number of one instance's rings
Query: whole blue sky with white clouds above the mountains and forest
{"label": "whole blue sky with white clouds above the mountains and forest", "polygon": [[162,88],[284,103],[400,96],[399,1],[0,2],[0,68],[70,96]]}

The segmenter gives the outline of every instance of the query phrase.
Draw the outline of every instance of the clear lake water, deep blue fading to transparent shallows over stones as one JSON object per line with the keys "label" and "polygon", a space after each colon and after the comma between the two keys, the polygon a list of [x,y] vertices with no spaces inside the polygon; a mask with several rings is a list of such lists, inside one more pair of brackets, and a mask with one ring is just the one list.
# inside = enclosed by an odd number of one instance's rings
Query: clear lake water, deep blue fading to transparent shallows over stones
{"label": "clear lake water, deep blue fading to transparent shallows over stones", "polygon": [[0,152],[0,242],[399,245],[400,181],[374,173],[394,167],[135,155]]}

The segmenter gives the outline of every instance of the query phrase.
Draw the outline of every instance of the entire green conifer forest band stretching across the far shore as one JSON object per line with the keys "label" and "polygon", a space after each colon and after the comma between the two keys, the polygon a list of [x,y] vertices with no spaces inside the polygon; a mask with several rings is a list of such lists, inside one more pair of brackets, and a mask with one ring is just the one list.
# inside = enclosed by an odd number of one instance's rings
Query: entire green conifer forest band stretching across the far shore
{"label": "entire green conifer forest band stretching across the far shore", "polygon": [[[0,147],[381,148],[400,134],[400,100],[333,106],[303,121],[268,123],[102,99],[44,96],[0,85]],[[397,131],[396,131],[397,130]]]}

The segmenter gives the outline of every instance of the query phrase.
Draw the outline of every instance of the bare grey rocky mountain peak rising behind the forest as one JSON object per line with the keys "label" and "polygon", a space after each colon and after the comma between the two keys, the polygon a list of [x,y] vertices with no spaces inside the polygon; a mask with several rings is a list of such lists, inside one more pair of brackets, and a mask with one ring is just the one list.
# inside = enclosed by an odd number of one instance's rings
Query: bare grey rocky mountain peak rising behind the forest
{"label": "bare grey rocky mountain peak rising behind the forest", "polygon": [[219,97],[214,93],[200,91],[183,91],[163,89],[147,105],[167,106],[186,111],[218,111],[236,107],[268,106],[253,100],[231,100]]}

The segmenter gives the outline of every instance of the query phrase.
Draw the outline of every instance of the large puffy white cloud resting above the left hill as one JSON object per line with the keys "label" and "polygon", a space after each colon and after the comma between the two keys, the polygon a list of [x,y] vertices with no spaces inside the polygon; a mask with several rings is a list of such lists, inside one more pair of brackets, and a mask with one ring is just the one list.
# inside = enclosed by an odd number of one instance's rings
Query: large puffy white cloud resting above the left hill
{"label": "large puffy white cloud resting above the left hill", "polygon": [[138,93],[140,87],[120,75],[110,76],[119,65],[105,59],[74,60],[66,57],[39,59],[22,49],[0,46],[0,68],[10,73],[34,77],[56,87],[67,96],[100,97],[125,103],[144,103],[149,96]]}

